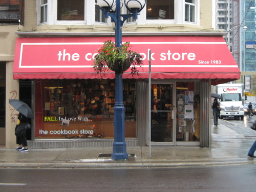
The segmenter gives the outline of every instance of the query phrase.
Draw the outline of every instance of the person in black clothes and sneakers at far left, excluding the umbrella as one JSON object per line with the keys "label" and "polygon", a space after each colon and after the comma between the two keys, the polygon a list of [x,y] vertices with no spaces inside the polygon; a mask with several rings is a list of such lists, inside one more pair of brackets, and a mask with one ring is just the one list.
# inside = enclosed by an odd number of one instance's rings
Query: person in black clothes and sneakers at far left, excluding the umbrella
{"label": "person in black clothes and sneakers at far left, excluding the umbrella", "polygon": [[27,137],[26,137],[28,124],[29,124],[28,118],[22,113],[19,113],[17,125],[15,127],[16,143],[18,144],[18,146],[15,148],[16,151],[20,151],[20,152],[29,151]]}

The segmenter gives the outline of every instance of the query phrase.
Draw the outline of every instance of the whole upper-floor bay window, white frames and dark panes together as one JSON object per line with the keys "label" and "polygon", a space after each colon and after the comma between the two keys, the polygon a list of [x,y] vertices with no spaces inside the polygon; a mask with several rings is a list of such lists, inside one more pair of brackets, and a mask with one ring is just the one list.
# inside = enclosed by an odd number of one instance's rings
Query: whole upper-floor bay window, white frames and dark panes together
{"label": "whole upper-floor bay window, white frames and dark panes together", "polygon": [[[96,0],[37,0],[37,3],[38,24],[111,25],[110,18],[104,18]],[[184,21],[199,24],[199,6],[199,0],[146,0],[146,6],[140,12],[139,19],[135,20],[131,17],[125,24],[172,25],[183,24]],[[130,12],[122,7],[121,14],[130,14]]]}

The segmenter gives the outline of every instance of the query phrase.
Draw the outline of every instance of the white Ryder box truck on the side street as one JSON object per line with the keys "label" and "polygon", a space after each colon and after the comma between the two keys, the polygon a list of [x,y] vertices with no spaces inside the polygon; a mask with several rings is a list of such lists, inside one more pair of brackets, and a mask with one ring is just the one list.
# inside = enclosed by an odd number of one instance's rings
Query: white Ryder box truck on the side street
{"label": "white Ryder box truck on the side street", "polygon": [[218,84],[216,92],[221,95],[220,99],[220,118],[234,117],[235,119],[244,119],[243,93],[244,85],[242,83]]}

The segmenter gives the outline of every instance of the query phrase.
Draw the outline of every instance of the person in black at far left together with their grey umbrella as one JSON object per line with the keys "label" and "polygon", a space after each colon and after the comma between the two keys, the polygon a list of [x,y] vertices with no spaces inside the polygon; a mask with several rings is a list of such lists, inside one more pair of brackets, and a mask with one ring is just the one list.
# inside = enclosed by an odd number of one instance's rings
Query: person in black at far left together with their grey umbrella
{"label": "person in black at far left together with their grey umbrella", "polygon": [[19,112],[17,125],[15,127],[16,143],[18,144],[18,147],[16,147],[15,150],[20,152],[27,152],[28,142],[26,131],[31,128],[28,118],[34,118],[33,112],[29,105],[23,101],[17,99],[9,99],[9,103],[16,111]]}

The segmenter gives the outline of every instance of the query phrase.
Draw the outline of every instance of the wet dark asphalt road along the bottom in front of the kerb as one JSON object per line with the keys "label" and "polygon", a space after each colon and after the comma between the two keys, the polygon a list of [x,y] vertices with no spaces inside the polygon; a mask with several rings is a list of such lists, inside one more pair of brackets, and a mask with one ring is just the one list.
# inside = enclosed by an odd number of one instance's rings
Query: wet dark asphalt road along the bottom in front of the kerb
{"label": "wet dark asphalt road along the bottom in front of the kerb", "polygon": [[0,169],[0,191],[255,191],[253,164],[184,168]]}

